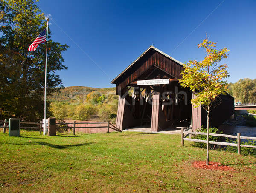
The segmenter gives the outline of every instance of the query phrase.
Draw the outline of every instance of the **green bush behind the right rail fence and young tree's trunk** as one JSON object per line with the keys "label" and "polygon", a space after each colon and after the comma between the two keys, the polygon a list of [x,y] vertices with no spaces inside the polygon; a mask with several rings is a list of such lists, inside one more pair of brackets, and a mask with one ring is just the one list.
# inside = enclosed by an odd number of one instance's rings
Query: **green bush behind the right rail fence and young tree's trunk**
{"label": "green bush behind the right rail fence and young tree's trunk", "polygon": [[[204,132],[207,133],[207,128],[201,128],[198,129],[197,132]],[[222,131],[219,131],[218,128],[209,128],[209,133],[219,133],[221,134]],[[210,136],[209,135],[209,141],[220,141],[219,136]],[[206,135],[196,135],[193,137],[193,139],[200,139],[200,140],[207,140],[207,136]],[[201,143],[201,142],[194,142],[195,147],[199,147],[199,148],[207,148],[207,144],[206,143]],[[209,148],[214,149],[215,145],[214,144],[209,144]],[[219,146],[218,146],[219,148]]]}

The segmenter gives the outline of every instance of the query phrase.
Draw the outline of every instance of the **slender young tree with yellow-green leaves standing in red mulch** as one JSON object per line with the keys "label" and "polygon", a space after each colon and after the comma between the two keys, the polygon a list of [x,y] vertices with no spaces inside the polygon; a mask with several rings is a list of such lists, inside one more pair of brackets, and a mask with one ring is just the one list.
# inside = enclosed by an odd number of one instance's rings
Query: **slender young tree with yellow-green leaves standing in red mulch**
{"label": "slender young tree with yellow-green leaves standing in red mulch", "polygon": [[221,94],[226,94],[225,86],[227,82],[224,80],[229,77],[227,65],[218,63],[227,58],[227,48],[220,51],[216,49],[216,43],[211,42],[206,38],[202,43],[198,44],[198,48],[204,48],[206,56],[204,60],[189,61],[183,67],[181,72],[182,78],[179,80],[180,85],[189,87],[191,91],[196,92],[195,99],[191,100],[194,108],[202,106],[207,111],[207,159],[206,165],[209,162],[209,113],[219,104],[218,97]]}

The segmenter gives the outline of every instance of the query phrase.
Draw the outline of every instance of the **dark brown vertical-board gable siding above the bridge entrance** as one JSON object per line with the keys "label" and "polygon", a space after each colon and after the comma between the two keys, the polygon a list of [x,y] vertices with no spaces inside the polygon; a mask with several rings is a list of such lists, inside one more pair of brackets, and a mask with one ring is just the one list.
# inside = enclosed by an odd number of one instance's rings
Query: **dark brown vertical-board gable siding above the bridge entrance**
{"label": "dark brown vertical-board gable siding above the bridge entrance", "polygon": [[178,79],[180,78],[180,72],[183,68],[182,65],[169,59],[158,51],[150,49],[143,55],[143,57],[137,60],[127,71],[125,71],[124,74],[113,82],[116,84],[116,94],[121,93],[123,88],[129,85],[130,82],[137,80],[140,75],[153,65]]}

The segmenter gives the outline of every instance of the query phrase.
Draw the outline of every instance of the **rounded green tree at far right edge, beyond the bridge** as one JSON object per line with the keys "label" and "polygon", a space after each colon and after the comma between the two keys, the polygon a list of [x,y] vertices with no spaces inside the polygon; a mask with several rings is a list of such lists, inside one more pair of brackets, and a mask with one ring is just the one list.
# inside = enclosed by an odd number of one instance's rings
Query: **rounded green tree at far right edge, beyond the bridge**
{"label": "rounded green tree at far right edge, beyond the bridge", "polygon": [[242,103],[256,102],[256,79],[240,79],[231,87],[236,100],[239,100]]}

